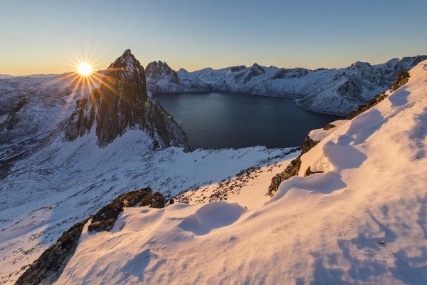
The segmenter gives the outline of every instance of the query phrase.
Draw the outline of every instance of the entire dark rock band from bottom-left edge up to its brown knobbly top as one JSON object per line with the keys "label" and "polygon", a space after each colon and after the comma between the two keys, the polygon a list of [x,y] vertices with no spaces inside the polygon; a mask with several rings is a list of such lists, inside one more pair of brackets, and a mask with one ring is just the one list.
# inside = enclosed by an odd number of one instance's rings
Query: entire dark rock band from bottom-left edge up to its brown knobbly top
{"label": "entire dark rock band from bottom-left edge up to its brown knobbly top", "polygon": [[84,219],[73,227],[46,249],[36,261],[16,281],[16,285],[51,284],[58,279],[68,260],[73,257],[80,239],[84,225],[90,221],[90,232],[110,231],[123,211],[124,207],[149,206],[154,208],[164,207],[164,197],[159,192],[152,193],[149,188],[142,188],[125,193],[114,199],[107,206],[102,207],[96,214]]}

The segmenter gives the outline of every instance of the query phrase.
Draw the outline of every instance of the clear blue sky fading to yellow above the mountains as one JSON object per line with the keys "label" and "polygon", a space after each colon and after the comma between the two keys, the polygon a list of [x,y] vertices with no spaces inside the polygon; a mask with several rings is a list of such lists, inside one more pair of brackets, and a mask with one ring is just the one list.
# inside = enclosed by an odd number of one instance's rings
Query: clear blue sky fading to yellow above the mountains
{"label": "clear blue sky fading to yellow above the mountains", "polygon": [[126,48],[178,70],[334,68],[427,54],[423,1],[1,1],[0,73],[106,68]]}

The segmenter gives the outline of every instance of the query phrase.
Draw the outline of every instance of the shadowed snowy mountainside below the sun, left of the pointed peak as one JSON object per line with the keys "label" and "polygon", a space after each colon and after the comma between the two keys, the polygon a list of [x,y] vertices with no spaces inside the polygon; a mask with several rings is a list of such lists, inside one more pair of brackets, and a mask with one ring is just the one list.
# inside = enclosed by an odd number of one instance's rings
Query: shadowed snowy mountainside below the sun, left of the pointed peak
{"label": "shadowed snowy mountainside below the sun, left of the pointed peak", "polygon": [[89,86],[79,86],[71,73],[0,78],[0,178],[13,162],[51,135],[88,98]]}

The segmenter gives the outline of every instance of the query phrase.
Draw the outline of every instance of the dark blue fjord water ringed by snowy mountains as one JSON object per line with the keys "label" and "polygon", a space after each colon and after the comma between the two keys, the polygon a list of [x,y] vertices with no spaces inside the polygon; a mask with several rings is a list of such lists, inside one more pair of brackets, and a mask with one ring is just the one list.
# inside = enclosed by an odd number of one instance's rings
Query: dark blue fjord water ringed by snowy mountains
{"label": "dark blue fjord water ringed by snowy mountains", "polygon": [[295,147],[310,130],[342,118],[302,110],[283,97],[218,92],[156,97],[184,129],[193,149]]}

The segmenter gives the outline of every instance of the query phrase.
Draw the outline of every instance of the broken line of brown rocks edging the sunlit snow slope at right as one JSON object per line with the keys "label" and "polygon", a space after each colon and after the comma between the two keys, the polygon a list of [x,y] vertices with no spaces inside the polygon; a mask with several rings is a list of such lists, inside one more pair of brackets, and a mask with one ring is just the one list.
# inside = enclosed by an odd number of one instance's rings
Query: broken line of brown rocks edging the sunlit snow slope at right
{"label": "broken line of brown rocks edging the sunlit snow slope at right", "polygon": [[[400,71],[397,75],[396,81],[394,81],[393,86],[391,86],[391,90],[394,91],[401,88],[401,86],[404,86],[405,83],[408,82],[408,78],[409,78],[409,73],[407,73],[406,71]],[[346,120],[352,120],[353,118],[356,118],[358,115],[366,112],[370,108],[374,107],[374,105],[380,103],[386,97],[387,97],[386,92],[376,95],[374,99],[369,100],[366,104],[359,105],[359,107],[352,110],[352,112],[350,112],[349,115],[347,115]],[[334,127],[335,126],[332,124],[327,124],[325,125],[323,130],[330,130]],[[292,160],[292,162],[290,162],[290,165],[288,165],[288,167],[286,167],[285,170],[283,170],[282,172],[279,172],[277,175],[275,175],[271,179],[271,184],[268,187],[268,195],[270,196],[275,195],[275,192],[279,190],[280,183],[290,179],[290,177],[293,177],[297,175],[298,172],[300,172],[301,156],[305,154],[305,152],[308,152],[313,147],[315,147],[315,145],[317,145],[317,143],[319,142],[320,141],[312,140],[312,138],[310,138],[310,133],[309,135],[307,135],[304,142],[302,143],[301,154],[298,155],[297,158],[295,158],[295,160]],[[305,170],[305,176],[309,176],[314,173],[320,173],[320,172],[312,172],[312,170],[310,170],[310,167],[308,167],[307,170]]]}

